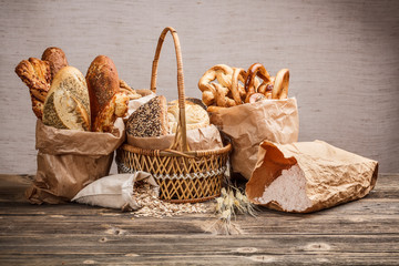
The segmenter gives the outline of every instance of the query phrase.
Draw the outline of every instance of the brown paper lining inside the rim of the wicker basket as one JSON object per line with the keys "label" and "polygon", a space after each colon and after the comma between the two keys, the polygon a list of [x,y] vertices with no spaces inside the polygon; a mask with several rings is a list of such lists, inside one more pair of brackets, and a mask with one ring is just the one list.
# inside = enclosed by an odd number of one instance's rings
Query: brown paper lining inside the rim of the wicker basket
{"label": "brown paper lining inside the rim of the wicker basket", "polygon": [[[147,150],[170,149],[175,134],[154,137],[135,137],[127,134],[127,143]],[[223,147],[221,133],[215,125],[187,131],[187,144],[192,151],[215,150]]]}

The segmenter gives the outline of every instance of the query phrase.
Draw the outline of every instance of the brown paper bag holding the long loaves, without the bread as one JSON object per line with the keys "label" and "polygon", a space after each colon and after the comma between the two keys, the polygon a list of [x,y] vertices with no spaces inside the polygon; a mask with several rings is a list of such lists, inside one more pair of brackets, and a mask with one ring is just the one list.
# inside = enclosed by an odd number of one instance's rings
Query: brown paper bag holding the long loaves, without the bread
{"label": "brown paper bag holding the long loaves, without the bread", "polygon": [[91,182],[106,176],[113,152],[124,141],[124,123],[111,133],[58,130],[37,122],[38,171],[27,198],[34,204],[70,201]]}

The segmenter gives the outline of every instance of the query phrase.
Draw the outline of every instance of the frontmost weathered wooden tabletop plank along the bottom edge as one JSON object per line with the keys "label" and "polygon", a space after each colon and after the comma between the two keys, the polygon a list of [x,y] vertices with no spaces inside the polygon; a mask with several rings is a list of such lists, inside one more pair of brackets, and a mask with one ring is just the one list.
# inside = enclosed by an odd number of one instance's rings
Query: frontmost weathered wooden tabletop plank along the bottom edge
{"label": "frontmost weathered wooden tabletop plank along the bottom edge", "polygon": [[[19,238],[19,239],[16,239]],[[184,262],[263,262],[273,258],[277,263],[304,264],[323,263],[341,264],[367,262],[367,264],[392,264],[399,257],[399,236],[164,236],[164,235],[54,235],[51,238],[12,237],[6,239],[12,245],[4,246],[2,257],[19,255],[27,258],[45,258],[51,255],[55,262],[78,257],[91,258],[101,263],[112,258],[131,258],[133,262],[146,263],[184,263]],[[226,245],[228,243],[228,245]],[[110,260],[111,258],[111,260]],[[100,260],[99,260],[100,259]],[[237,260],[238,259],[238,260]],[[310,262],[308,260],[310,259]],[[82,263],[82,260],[80,260]],[[29,262],[29,260],[28,260]],[[116,260],[117,262],[117,260]],[[264,262],[268,262],[264,260]]]}

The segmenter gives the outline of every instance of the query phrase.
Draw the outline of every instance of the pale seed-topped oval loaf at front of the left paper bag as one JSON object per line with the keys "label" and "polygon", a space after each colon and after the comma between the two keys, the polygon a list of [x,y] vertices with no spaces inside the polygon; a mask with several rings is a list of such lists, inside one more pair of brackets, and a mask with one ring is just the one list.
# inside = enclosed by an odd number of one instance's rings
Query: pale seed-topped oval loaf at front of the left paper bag
{"label": "pale seed-topped oval loaf at front of the left paper bag", "polygon": [[57,129],[90,131],[90,100],[83,74],[73,66],[54,76],[44,102],[43,123]]}

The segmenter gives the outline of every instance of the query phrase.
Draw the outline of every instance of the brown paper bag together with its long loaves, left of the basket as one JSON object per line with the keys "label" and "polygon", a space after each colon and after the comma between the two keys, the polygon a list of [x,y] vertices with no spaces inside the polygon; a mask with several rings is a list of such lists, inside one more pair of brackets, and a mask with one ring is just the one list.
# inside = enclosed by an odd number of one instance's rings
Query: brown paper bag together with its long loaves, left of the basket
{"label": "brown paper bag together with its long loaves, left of the basket", "polygon": [[109,174],[125,139],[117,117],[126,115],[129,100],[137,95],[105,55],[96,57],[84,76],[60,48],[48,48],[41,60],[22,60],[16,73],[29,88],[38,119],[38,171],[27,197],[35,204],[69,201]]}

